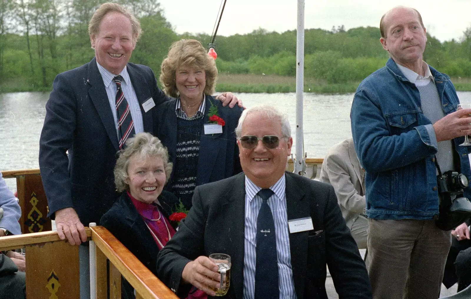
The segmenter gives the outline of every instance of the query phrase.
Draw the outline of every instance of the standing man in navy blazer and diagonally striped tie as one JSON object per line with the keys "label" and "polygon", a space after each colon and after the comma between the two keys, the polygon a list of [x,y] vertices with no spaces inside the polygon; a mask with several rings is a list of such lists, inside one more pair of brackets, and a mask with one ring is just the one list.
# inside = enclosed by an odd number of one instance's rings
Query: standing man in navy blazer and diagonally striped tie
{"label": "standing man in navy blazer and diagonally striped tie", "polygon": [[159,118],[154,106],[170,100],[149,67],[129,62],[141,32],[138,19],[125,8],[102,4],[89,23],[95,57],[58,74],[46,104],[41,178],[48,216],[71,244],[85,242],[83,225],[97,223],[119,196],[116,152],[127,137],[154,133]]}

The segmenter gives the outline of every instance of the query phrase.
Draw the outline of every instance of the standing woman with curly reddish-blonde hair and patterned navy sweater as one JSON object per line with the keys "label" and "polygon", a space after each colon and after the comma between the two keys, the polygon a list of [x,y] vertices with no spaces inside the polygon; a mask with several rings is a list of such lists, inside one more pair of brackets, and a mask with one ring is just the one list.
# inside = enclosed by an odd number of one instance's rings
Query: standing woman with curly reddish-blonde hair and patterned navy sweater
{"label": "standing woman with curly reddish-blonde hair and patterned navy sweater", "polygon": [[[235,127],[242,108],[223,107],[211,97],[218,69],[198,40],[172,44],[162,61],[160,81],[176,99],[157,107],[156,136],[167,146],[173,171],[166,189],[191,208],[195,186],[242,171]],[[210,130],[215,123],[219,130]]]}

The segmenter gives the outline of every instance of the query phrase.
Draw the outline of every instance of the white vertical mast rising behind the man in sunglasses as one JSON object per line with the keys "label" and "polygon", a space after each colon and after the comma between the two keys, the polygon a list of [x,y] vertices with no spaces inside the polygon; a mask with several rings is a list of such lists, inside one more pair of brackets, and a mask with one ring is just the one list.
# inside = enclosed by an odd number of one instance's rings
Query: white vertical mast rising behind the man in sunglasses
{"label": "white vertical mast rising behind the man in sunglasses", "polygon": [[304,142],[302,105],[304,92],[304,0],[298,0],[298,26],[296,31],[296,160],[294,173],[304,175]]}

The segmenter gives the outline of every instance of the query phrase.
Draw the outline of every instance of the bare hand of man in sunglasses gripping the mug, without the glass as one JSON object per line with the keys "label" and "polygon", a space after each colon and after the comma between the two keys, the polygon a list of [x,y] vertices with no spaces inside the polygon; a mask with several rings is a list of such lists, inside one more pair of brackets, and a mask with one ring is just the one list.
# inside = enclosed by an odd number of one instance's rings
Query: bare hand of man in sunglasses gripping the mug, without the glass
{"label": "bare hand of man in sunglasses gripping the mug, without the glass", "polygon": [[183,268],[181,278],[184,282],[191,283],[197,289],[200,289],[210,296],[215,296],[216,293],[208,286],[218,289],[220,283],[218,266],[216,266],[211,259],[204,256],[200,256],[194,261],[189,262]]}

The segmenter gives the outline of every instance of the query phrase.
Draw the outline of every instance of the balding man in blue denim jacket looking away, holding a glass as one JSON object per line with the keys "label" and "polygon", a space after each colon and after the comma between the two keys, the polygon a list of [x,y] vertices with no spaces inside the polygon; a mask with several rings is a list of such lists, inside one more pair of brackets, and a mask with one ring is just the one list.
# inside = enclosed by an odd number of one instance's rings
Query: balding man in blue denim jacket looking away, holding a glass
{"label": "balding man in blue denim jacket looking away, holding a glass", "polygon": [[[439,298],[450,232],[439,216],[437,167],[471,178],[471,109],[459,104],[450,78],[423,61],[427,36],[413,8],[392,8],[381,18],[386,66],[358,86],[351,127],[366,170],[369,276],[373,297]],[[436,156],[436,158],[435,158]],[[464,189],[470,198],[469,188]]]}

